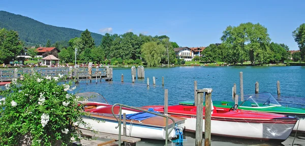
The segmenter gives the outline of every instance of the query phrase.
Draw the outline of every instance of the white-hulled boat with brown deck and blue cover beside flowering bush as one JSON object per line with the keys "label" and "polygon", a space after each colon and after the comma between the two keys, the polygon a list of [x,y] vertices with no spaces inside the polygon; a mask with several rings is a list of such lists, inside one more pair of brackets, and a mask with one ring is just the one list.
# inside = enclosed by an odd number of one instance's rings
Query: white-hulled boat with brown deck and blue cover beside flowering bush
{"label": "white-hulled boat with brown deck and blue cover beside flowering bush", "polygon": [[[94,98],[100,97],[98,100],[102,101],[102,103],[88,101],[81,101],[78,103],[78,106],[83,106],[84,112],[88,113],[87,116],[83,116],[82,118],[86,123],[89,123],[95,131],[118,134],[118,128],[115,128],[118,126],[118,106],[113,107],[112,113],[112,105],[109,105],[102,95],[94,92],[78,93],[76,95],[83,97],[94,96]],[[155,111],[150,109],[150,112]],[[127,136],[158,140],[166,139],[165,117],[125,107],[122,107],[122,113],[126,113]],[[174,123],[172,120],[168,119],[168,139],[179,137],[186,120],[185,118],[179,117],[171,118],[173,118]],[[123,118],[121,124],[121,134],[123,135]],[[80,127],[85,128],[83,125],[80,125]]]}

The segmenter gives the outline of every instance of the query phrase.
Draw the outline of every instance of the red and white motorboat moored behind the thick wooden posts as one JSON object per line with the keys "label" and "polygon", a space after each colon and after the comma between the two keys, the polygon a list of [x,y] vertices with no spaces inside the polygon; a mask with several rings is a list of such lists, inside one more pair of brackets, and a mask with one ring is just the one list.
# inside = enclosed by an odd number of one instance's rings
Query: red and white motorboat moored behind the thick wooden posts
{"label": "red and white motorboat moored behind the thick wooden posts", "polygon": [[[145,108],[154,108],[155,111],[164,112],[163,106],[142,107],[142,109]],[[196,107],[169,106],[168,114],[186,118],[185,130],[190,132],[196,131]],[[296,118],[280,114],[238,110],[235,109],[235,106],[232,108],[217,108],[214,106],[211,114],[211,134],[247,139],[284,141],[291,133],[296,122]]]}

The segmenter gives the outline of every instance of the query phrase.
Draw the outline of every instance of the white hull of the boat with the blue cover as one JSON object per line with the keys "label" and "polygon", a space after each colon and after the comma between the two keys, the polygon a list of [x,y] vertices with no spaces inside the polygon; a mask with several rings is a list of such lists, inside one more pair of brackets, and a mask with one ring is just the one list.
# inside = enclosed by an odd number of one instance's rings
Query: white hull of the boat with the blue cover
{"label": "white hull of the boat with the blue cover", "polygon": [[[118,125],[117,121],[92,117],[83,117],[83,120],[91,125],[92,130],[116,135],[119,132],[118,128],[115,128]],[[179,126],[184,126],[184,121],[178,122],[177,124]],[[172,126],[172,124],[169,125],[168,129]],[[80,127],[84,128],[82,125],[80,125]],[[126,127],[127,136],[158,140],[164,140],[166,138],[165,127],[153,127],[135,123],[126,123]],[[121,125],[121,135],[123,135],[123,122]],[[169,133],[169,139],[174,137],[176,137],[175,131],[172,130],[171,133]]]}

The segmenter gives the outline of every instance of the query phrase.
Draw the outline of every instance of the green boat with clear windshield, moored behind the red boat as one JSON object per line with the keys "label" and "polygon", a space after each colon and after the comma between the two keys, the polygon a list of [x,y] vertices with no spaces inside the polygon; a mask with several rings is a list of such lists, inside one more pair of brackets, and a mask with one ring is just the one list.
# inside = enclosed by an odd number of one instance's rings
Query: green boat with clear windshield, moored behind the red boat
{"label": "green boat with clear windshield, moored behind the red boat", "polygon": [[[225,101],[212,101],[212,104],[216,108],[233,108],[235,105],[234,102]],[[194,106],[195,103],[194,101],[180,102],[179,105]],[[238,109],[296,116],[299,120],[293,130],[305,131],[305,109],[282,106],[269,92],[254,94],[247,100],[238,102]]]}

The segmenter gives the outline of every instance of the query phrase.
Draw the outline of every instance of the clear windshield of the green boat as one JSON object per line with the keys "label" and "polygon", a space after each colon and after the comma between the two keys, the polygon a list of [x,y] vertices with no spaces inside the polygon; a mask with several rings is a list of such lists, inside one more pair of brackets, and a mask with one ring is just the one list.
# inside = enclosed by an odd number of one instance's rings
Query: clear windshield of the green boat
{"label": "clear windshield of the green boat", "polygon": [[250,96],[240,106],[243,107],[268,107],[281,106],[278,101],[268,92],[258,93]]}

